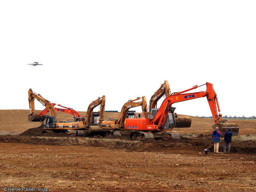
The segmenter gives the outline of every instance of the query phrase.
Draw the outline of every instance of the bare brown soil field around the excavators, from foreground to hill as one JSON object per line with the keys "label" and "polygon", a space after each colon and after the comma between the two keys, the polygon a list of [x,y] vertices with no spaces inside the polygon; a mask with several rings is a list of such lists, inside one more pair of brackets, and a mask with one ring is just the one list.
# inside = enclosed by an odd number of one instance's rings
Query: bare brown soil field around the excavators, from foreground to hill
{"label": "bare brown soil field around the excavators, from foreground to hill", "polygon": [[[127,135],[42,137],[40,123],[29,122],[28,114],[0,110],[0,191],[256,191],[256,140],[237,139],[255,136],[256,121],[228,121],[240,126],[231,153],[216,154],[210,147],[206,155],[212,119],[191,117],[190,128],[173,129],[181,139],[142,142]],[[104,118],[118,115],[105,113]]]}

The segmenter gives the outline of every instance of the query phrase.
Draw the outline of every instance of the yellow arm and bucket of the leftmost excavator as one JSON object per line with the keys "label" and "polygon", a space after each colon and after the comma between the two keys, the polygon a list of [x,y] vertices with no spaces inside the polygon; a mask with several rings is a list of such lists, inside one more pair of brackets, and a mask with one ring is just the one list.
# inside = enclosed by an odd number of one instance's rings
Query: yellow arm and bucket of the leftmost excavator
{"label": "yellow arm and bucket of the leftmost excavator", "polygon": [[32,91],[32,89],[29,89],[28,91],[28,102],[29,102],[29,109],[30,114],[28,116],[29,121],[42,121],[44,119],[43,116],[39,116],[37,114],[34,114],[35,112],[35,103],[34,100],[38,100],[42,105],[47,108],[47,110],[50,112],[50,116],[57,117],[56,111],[54,110],[54,107],[50,101],[42,97],[42,95],[35,93]]}

